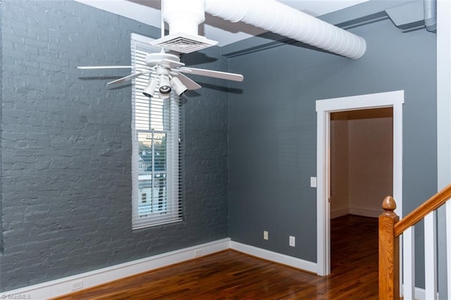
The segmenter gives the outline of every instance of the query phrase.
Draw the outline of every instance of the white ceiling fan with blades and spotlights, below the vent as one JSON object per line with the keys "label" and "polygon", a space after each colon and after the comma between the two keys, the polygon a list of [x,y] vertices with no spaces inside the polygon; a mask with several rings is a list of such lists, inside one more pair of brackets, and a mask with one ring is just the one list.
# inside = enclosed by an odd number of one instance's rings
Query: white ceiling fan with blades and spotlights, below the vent
{"label": "white ceiling fan with blades and spotlights, below the vent", "polygon": [[136,67],[133,65],[99,65],[99,66],[80,66],[79,69],[114,69],[114,68],[131,68],[135,69],[135,73],[125,77],[121,77],[117,80],[108,82],[107,85],[114,85],[121,82],[132,80],[144,74],[154,73],[156,77],[152,77],[149,80],[147,86],[143,89],[142,93],[145,96],[152,97],[156,86],[159,85],[159,94],[163,98],[167,98],[171,94],[172,89],[180,96],[187,90],[194,90],[201,88],[196,82],[189,77],[183,75],[194,74],[208,77],[216,77],[225,80],[233,80],[241,82],[243,76],[235,73],[226,73],[215,70],[206,70],[198,68],[185,67],[185,63],[180,62],[180,58],[174,54],[161,53],[149,53],[145,58],[147,68],[142,66]]}

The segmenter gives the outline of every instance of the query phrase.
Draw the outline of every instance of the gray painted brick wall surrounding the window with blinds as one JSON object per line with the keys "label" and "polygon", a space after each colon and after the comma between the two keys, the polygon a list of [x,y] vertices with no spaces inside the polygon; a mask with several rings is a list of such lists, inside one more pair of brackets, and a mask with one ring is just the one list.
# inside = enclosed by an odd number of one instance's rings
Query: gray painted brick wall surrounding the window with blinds
{"label": "gray painted brick wall surrounding the window with blinds", "polygon": [[132,231],[131,88],[106,87],[127,71],[76,68],[128,65],[130,32],[159,30],[73,1],[5,0],[1,32],[1,291],[227,237],[226,94],[183,99],[185,220]]}

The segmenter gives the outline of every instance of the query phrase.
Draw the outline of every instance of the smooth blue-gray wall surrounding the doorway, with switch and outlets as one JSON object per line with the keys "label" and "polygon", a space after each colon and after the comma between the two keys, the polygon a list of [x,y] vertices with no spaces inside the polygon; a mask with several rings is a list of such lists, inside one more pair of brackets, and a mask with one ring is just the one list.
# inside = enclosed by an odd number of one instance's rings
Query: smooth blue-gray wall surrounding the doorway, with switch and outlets
{"label": "smooth blue-gray wall surrounding the doorway, with switch and outlets", "polygon": [[[230,58],[230,71],[245,75],[245,82],[231,85],[242,94],[229,96],[233,240],[316,261],[316,190],[309,177],[316,175],[318,99],[403,89],[404,213],[435,194],[435,35],[402,33],[390,20],[350,31],[368,43],[356,61],[296,44]],[[288,235],[297,238],[295,248]],[[419,257],[421,251],[418,244]]]}

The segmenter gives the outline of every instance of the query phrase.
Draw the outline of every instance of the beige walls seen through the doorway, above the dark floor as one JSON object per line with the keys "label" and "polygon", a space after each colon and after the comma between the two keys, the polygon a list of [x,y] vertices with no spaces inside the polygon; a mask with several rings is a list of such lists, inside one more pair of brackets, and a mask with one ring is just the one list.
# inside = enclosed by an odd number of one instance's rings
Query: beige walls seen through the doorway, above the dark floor
{"label": "beige walls seen through the doorway, above the dark floor", "polygon": [[330,218],[378,218],[393,194],[393,108],[330,113]]}

